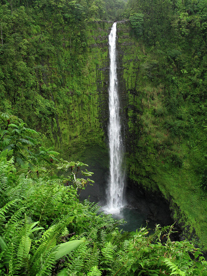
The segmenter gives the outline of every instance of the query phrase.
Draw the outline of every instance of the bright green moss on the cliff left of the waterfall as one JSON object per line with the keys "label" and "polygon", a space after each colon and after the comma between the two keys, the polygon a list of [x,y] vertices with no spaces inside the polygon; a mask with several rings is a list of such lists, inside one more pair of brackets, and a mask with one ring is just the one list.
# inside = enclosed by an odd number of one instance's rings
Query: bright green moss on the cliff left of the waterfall
{"label": "bright green moss on the cliff left of the waterfall", "polygon": [[[100,124],[100,109],[98,107],[105,75],[97,72],[97,67],[104,67],[108,62],[107,23],[91,23],[86,29],[86,52],[79,54],[80,74],[69,74],[65,82],[68,85],[68,99],[64,105],[57,104],[56,148],[62,156],[71,156],[77,149],[92,145],[104,146],[104,132]],[[64,54],[65,55],[65,54]],[[98,79],[97,79],[98,78]],[[97,86],[98,83],[98,86]],[[63,93],[67,91],[61,88]]]}

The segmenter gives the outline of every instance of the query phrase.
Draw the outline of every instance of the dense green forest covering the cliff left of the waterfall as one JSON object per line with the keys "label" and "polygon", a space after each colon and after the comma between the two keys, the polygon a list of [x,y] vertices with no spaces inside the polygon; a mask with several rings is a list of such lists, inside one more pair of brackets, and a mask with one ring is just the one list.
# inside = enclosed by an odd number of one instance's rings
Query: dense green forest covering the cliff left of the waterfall
{"label": "dense green forest covering the cliff left of the waterfall", "polygon": [[[97,114],[90,114],[95,113],[94,71],[101,51],[95,60],[91,57],[93,50],[88,46],[94,34],[89,25],[116,17],[124,5],[122,0],[1,1],[1,111],[17,115],[31,128],[46,133],[48,145],[59,144],[59,128],[65,128],[67,113],[70,131],[61,133],[65,141],[81,135],[77,126],[80,120],[87,132],[98,125],[94,119]],[[99,30],[99,35],[107,33]]]}

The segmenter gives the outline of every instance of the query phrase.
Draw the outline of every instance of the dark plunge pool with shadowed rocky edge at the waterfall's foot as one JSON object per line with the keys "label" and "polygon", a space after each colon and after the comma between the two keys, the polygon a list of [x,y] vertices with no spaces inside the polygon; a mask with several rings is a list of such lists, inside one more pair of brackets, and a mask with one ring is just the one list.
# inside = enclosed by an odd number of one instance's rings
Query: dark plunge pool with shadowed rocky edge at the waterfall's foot
{"label": "dark plunge pool with shadowed rocky edge at the waterfall's foot", "polygon": [[[89,199],[91,202],[98,202],[100,206],[105,206],[105,197],[100,196],[101,192],[105,196],[103,186],[96,186],[96,189],[93,186],[89,187],[88,190],[81,193],[80,200]],[[148,229],[154,229],[155,224],[160,224],[161,226],[171,225],[173,222],[170,218],[170,213],[168,214],[166,206],[162,204],[163,202],[160,201],[150,201],[150,198],[145,196],[139,198],[134,196],[132,198],[132,195],[126,191],[125,207],[120,210],[120,213],[113,213],[112,217],[117,220],[123,218],[126,221],[126,223],[120,225],[120,229],[124,231],[136,231],[136,229],[146,226]],[[102,211],[104,209],[104,207],[101,207]]]}

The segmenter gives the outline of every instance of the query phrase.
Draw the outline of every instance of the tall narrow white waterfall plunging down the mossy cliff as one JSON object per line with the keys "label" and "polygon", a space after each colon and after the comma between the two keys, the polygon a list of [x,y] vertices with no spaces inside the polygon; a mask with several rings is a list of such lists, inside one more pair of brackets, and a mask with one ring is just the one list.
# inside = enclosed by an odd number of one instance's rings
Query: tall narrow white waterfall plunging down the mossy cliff
{"label": "tall narrow white waterfall plunging down the mossy cliff", "polygon": [[117,61],[116,61],[116,25],[113,23],[109,35],[109,158],[110,176],[107,190],[108,213],[119,213],[123,207],[124,173],[123,146],[121,141],[121,122],[119,117],[119,98],[117,89]]}

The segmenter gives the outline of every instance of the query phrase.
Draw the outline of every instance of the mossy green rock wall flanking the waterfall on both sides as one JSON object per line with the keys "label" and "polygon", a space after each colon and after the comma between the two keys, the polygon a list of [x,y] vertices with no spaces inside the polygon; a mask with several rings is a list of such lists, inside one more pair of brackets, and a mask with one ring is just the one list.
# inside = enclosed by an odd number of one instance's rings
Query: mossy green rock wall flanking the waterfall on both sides
{"label": "mossy green rock wall flanking the waterfall on both sides", "polygon": [[[67,108],[58,109],[58,127],[53,128],[61,155],[91,163],[91,169],[96,173],[97,166],[101,173],[108,169],[107,36],[112,24],[95,22],[87,29],[88,47],[82,63],[83,73],[71,79],[73,87],[77,86],[81,93],[72,92]],[[149,53],[143,42],[135,38],[128,21],[117,23],[122,135],[127,176],[130,183],[134,183],[129,188],[144,188],[148,194],[161,192],[170,202],[172,217],[182,229],[181,237],[199,237],[206,245],[205,195],[199,188],[196,172],[191,168],[192,154],[187,141],[179,141],[178,147],[178,136],[173,138],[166,128],[174,117],[165,109],[168,87],[162,79],[152,79],[153,68],[158,62],[159,58]]]}

